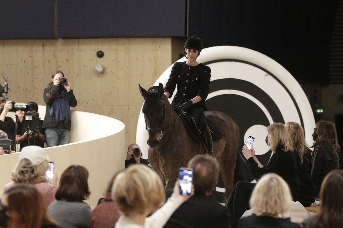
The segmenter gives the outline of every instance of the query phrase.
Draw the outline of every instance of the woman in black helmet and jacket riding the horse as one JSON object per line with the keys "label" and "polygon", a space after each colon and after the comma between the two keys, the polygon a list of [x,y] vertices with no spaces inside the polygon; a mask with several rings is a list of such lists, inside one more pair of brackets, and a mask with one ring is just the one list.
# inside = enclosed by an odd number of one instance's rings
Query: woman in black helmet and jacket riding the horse
{"label": "woman in black helmet and jacket riding the horse", "polygon": [[211,68],[197,61],[202,48],[202,40],[199,37],[192,36],[186,40],[184,52],[187,61],[174,64],[164,94],[171,98],[177,84],[171,105],[193,116],[209,154],[213,156],[211,132],[204,114],[204,109],[207,110],[205,100],[210,89]]}

